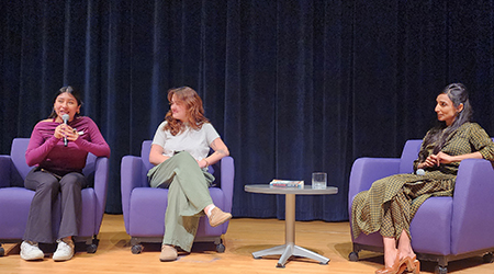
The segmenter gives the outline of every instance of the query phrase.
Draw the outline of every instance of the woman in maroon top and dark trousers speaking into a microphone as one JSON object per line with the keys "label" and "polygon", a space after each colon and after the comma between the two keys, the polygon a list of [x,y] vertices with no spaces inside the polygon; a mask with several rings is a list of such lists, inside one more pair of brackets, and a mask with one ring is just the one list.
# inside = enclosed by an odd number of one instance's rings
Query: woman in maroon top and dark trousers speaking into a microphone
{"label": "woman in maroon top and dark trousers speaking into a microphone", "polygon": [[[74,256],[72,236],[78,235],[81,214],[81,190],[88,186],[82,174],[88,152],[110,157],[110,147],[94,122],[80,116],[81,100],[72,87],[61,88],[54,100],[47,119],[34,126],[25,152],[26,163],[35,165],[26,175],[24,186],[33,190],[30,215],[21,258],[42,260],[38,242],[58,243],[53,254],[55,261]],[[58,233],[53,231],[52,205],[60,193],[61,220]]]}

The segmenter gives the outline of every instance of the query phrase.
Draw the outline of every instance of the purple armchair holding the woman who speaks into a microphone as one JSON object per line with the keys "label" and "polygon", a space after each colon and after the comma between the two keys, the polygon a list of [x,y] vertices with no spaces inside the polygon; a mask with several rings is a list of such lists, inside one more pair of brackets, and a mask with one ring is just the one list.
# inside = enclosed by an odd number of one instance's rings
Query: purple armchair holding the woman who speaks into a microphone
{"label": "purple armchair holding the woman who speaks into a microphone", "polygon": [[[10,156],[0,156],[0,243],[22,241],[34,191],[24,189],[24,178],[32,169],[25,162],[29,138],[15,138]],[[93,181],[93,187],[82,190],[82,215],[76,242],[85,242],[87,251],[98,249],[98,233],[106,202],[109,161],[89,153],[85,175]],[[59,204],[58,214],[60,216]],[[54,222],[56,224],[56,222]],[[56,225],[55,225],[56,226]],[[58,227],[58,226],[56,226]],[[0,255],[4,250],[0,244]]]}

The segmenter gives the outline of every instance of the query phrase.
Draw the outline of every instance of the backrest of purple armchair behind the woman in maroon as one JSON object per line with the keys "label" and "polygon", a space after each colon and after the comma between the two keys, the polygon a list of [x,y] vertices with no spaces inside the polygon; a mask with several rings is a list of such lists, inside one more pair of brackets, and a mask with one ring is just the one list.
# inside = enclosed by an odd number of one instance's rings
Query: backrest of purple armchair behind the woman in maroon
{"label": "backrest of purple armchair behind the woman in maroon", "polygon": [[[30,138],[15,138],[12,141],[12,147],[10,150],[10,158],[12,162],[18,169],[19,174],[22,180],[25,179],[27,173],[31,171],[33,167],[27,165],[25,162],[25,151],[27,150],[27,146],[30,145]],[[92,153],[88,153],[88,158],[86,159],[86,167],[82,170],[82,173],[87,176],[91,176],[94,173],[94,162],[97,157]]]}

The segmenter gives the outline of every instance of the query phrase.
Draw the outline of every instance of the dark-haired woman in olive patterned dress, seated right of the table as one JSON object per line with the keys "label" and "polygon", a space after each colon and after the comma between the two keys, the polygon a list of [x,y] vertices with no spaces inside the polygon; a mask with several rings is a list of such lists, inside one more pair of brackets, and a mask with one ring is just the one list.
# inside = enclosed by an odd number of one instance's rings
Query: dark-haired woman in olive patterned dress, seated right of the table
{"label": "dark-haired woman in olive patterned dress, seated right of the table", "polygon": [[417,174],[396,174],[372,183],[357,194],[351,205],[353,238],[380,231],[384,267],[377,274],[418,273],[419,262],[411,244],[409,224],[430,196],[452,196],[460,162],[464,159],[494,161],[494,144],[486,132],[471,122],[467,89],[452,83],[436,99],[439,126],[430,129],[414,161]]}

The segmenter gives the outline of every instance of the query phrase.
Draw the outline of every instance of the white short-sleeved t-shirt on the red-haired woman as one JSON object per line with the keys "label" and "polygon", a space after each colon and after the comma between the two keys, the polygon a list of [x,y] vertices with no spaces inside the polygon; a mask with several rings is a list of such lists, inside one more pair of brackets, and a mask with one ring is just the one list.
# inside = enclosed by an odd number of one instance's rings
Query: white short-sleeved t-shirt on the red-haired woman
{"label": "white short-sleeved t-shirt on the red-haired woman", "polygon": [[176,151],[187,151],[200,161],[207,157],[211,142],[220,137],[210,123],[204,123],[199,130],[187,127],[184,132],[176,136],[168,130],[162,130],[166,124],[166,121],[162,122],[156,129],[153,145],[161,146],[162,155],[168,157],[172,157]]}

